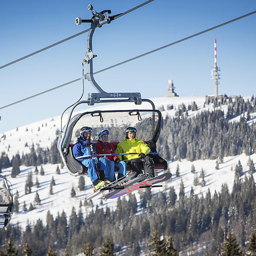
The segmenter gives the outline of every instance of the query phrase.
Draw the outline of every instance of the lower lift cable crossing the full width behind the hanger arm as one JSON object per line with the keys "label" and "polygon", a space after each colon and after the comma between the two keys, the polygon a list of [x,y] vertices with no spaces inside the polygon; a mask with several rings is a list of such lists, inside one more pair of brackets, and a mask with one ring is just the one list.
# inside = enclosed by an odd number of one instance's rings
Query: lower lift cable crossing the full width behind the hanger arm
{"label": "lower lift cable crossing the full width behind the hanger arm", "polygon": [[[122,65],[122,64],[124,64],[124,63],[126,63],[126,62],[129,62],[129,61],[131,61],[131,60],[135,60],[135,59],[137,59],[137,58],[143,57],[143,56],[145,56],[145,55],[147,55],[147,54],[156,52],[156,51],[158,51],[158,50],[162,50],[162,49],[167,48],[167,47],[169,47],[169,46],[172,46],[172,45],[174,45],[174,44],[178,44],[178,43],[180,43],[180,42],[182,42],[182,41],[185,41],[185,40],[190,39],[190,38],[192,38],[192,37],[195,37],[195,36],[197,36],[197,35],[201,35],[201,34],[203,34],[203,33],[206,33],[206,32],[208,32],[208,31],[213,30],[213,29],[216,29],[216,28],[218,28],[218,27],[227,25],[227,24],[229,24],[229,23],[231,23],[231,22],[233,22],[233,21],[237,21],[237,20],[239,20],[239,19],[242,19],[242,18],[247,17],[247,16],[249,16],[249,15],[252,15],[252,14],[254,14],[254,13],[256,13],[256,11],[250,12],[250,13],[248,13],[248,14],[246,14],[246,15],[243,15],[243,16],[240,16],[240,17],[238,17],[238,18],[236,18],[236,19],[232,19],[231,21],[227,21],[227,22],[225,22],[225,23],[222,23],[222,24],[217,25],[217,26],[215,26],[215,27],[212,27],[212,28],[210,28],[210,29],[206,29],[206,30],[201,31],[201,32],[199,32],[199,33],[196,33],[196,34],[194,34],[194,35],[190,35],[189,37],[185,37],[185,38],[183,38],[183,39],[181,39],[181,40],[178,40],[178,41],[173,42],[173,43],[171,43],[171,44],[167,44],[167,45],[165,45],[165,46],[162,46],[162,47],[157,48],[157,49],[155,49],[155,50],[152,50],[152,51],[150,51],[150,52],[146,52],[146,53],[141,54],[141,55],[139,55],[139,56],[133,57],[133,58],[131,58],[131,59],[129,59],[129,60],[125,60],[125,61],[123,61],[123,62],[117,63],[116,65],[112,65],[112,66],[110,66],[110,67],[108,67],[108,68],[106,68],[106,69],[102,69],[102,70],[100,70],[100,71],[96,71],[96,72],[94,73],[94,75],[95,75],[95,74],[98,74],[98,73],[100,73],[100,72],[106,71],[106,70],[108,70],[108,69],[112,69],[113,67],[117,67],[117,66],[119,66],[119,65]],[[83,77],[77,78],[77,79],[75,79],[75,80],[73,80],[73,81],[70,81],[70,82],[68,82],[68,83],[64,83],[64,84],[62,84],[62,85],[58,85],[58,86],[56,86],[56,87],[54,87],[54,88],[52,88],[52,89],[48,89],[48,90],[46,90],[46,91],[44,91],[44,92],[40,92],[40,93],[35,94],[35,95],[33,95],[33,96],[30,96],[30,97],[28,97],[28,98],[24,98],[23,100],[19,100],[19,101],[17,101],[17,102],[13,102],[13,103],[8,104],[8,105],[6,105],[6,106],[0,107],[0,109],[7,108],[7,107],[9,107],[9,106],[12,106],[12,105],[15,105],[15,104],[17,104],[17,103],[23,102],[23,101],[25,101],[25,100],[29,100],[29,99],[31,99],[31,98],[34,98],[34,97],[39,96],[39,95],[41,95],[41,94],[45,94],[46,92],[50,92],[50,91],[52,91],[52,90],[55,90],[55,89],[58,89],[58,88],[60,88],[60,87],[65,86],[65,85],[68,85],[68,84],[70,84],[70,83],[74,83],[74,82],[79,81],[79,80],[81,80],[81,79],[83,79]]]}

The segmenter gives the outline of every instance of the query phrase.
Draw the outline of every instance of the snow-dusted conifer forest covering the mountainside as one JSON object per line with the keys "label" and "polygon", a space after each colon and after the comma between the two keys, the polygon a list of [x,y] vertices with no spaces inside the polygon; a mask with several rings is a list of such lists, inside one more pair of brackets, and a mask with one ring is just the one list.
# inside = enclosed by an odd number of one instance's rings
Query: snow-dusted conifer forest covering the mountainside
{"label": "snow-dusted conifer forest covering the mountainside", "polygon": [[[206,100],[204,104],[214,104],[214,109],[198,111],[196,116],[189,117],[188,111],[198,110],[198,106],[195,102],[187,107],[181,104],[174,117],[167,115],[162,119],[156,146],[164,159],[187,159],[191,161],[193,173],[194,160],[216,160],[215,171],[218,171],[218,164],[225,156],[256,153],[256,122],[247,123],[250,113],[256,112],[254,96],[247,101],[239,96],[232,100]],[[228,106],[227,112],[219,108],[222,105]],[[167,110],[172,108],[168,105]],[[165,109],[162,106],[160,110]],[[236,121],[230,121],[239,116]],[[35,173],[44,175],[43,164],[61,164],[56,144],[57,140],[44,149],[35,145],[29,154],[16,154],[12,159],[2,152],[0,172],[12,167],[11,175],[16,177],[19,167],[25,165],[36,167]],[[233,188],[229,189],[224,183],[221,191],[208,190],[204,196],[195,194],[193,187],[190,194],[185,194],[181,182],[179,193],[172,185],[164,186],[158,193],[140,189],[139,200],[130,193],[118,198],[113,209],[102,200],[98,205],[93,205],[92,200],[83,200],[77,203],[79,210],[73,208],[70,216],[62,211],[54,217],[49,209],[46,221],[28,221],[25,229],[19,224],[0,229],[0,256],[256,255],[256,188],[252,160],[248,161],[248,169],[242,180],[244,173],[238,162]],[[57,168],[56,173],[59,171]],[[179,177],[179,171],[177,165],[176,173],[172,173]],[[33,175],[27,177],[27,194],[33,185],[40,187],[38,179],[33,184]],[[202,170],[194,184],[203,186],[203,181]],[[171,184],[172,180],[166,182]],[[52,177],[51,186],[54,185]],[[84,186],[84,180],[79,179],[79,189]],[[15,194],[15,198],[19,195]],[[17,200],[15,203],[19,204]],[[37,203],[40,204],[39,197]],[[31,204],[26,210],[33,207]]]}

